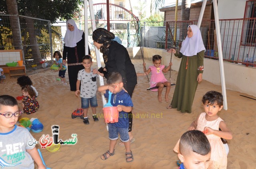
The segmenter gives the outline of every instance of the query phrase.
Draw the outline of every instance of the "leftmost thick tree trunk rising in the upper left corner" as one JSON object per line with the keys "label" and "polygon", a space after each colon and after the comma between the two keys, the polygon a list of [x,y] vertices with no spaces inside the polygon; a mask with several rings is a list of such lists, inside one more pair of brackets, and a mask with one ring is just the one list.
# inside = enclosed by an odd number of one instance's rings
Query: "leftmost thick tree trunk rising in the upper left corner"
{"label": "leftmost thick tree trunk rising in the upper left corner", "polygon": [[7,5],[8,14],[14,15],[14,16],[10,16],[10,25],[12,29],[12,40],[13,40],[12,46],[14,46],[14,49],[22,49],[17,2],[16,0],[6,0],[6,5]]}

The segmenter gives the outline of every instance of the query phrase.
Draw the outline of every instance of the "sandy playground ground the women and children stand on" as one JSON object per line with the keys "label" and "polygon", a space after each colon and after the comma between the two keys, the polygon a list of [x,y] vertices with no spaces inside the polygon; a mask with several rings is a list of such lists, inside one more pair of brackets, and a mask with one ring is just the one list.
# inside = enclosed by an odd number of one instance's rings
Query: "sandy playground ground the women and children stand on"
{"label": "sandy playground ground the women and children stand on", "polygon": [[[137,72],[142,72],[142,60],[133,59]],[[147,67],[151,65],[146,61]],[[175,64],[175,63],[174,63]],[[94,63],[96,66],[96,63]],[[178,72],[172,71],[172,82],[176,83]],[[169,73],[166,73],[169,79]],[[31,115],[23,114],[20,118],[38,118],[44,125],[44,130],[40,133],[33,133],[32,136],[40,141],[44,134],[52,136],[52,126],[59,126],[59,137],[62,141],[72,139],[72,134],[76,134],[76,144],[62,144],[56,152],[49,152],[40,148],[47,167],[52,169],[177,169],[176,161],[178,157],[173,151],[173,147],[186,132],[191,122],[204,112],[201,98],[209,90],[221,92],[221,86],[214,85],[208,81],[202,81],[198,85],[194,98],[192,113],[181,113],[176,109],[166,109],[169,103],[159,103],[157,92],[146,90],[148,80],[146,77],[138,77],[132,101],[133,108],[133,135],[136,139],[131,144],[134,161],[126,163],[125,147],[116,145],[114,156],[103,161],[100,155],[109,148],[108,132],[102,118],[102,99],[98,92],[97,113],[101,116],[98,122],[92,119],[92,111],[89,109],[89,125],[83,124],[78,117],[71,118],[72,112],[80,108],[80,98],[71,92],[69,85],[63,86],[56,80],[58,73],[47,71],[30,75],[33,86],[38,90],[39,110]],[[66,77],[68,77],[66,73]],[[21,88],[16,84],[16,78],[6,76],[5,84],[0,84],[0,94],[20,96]],[[67,78],[68,79],[68,78]],[[68,83],[68,82],[67,82]],[[175,86],[172,86],[169,98]],[[165,92],[165,89],[164,89]],[[230,148],[228,154],[228,169],[246,169],[256,164],[256,116],[255,100],[240,96],[240,92],[227,90],[228,110],[222,110],[219,116],[226,122],[233,134],[233,139],[228,140]],[[164,93],[162,93],[164,101]],[[20,101],[19,101],[20,102]],[[22,105],[19,104],[22,108]],[[118,140],[118,143],[120,140]]]}

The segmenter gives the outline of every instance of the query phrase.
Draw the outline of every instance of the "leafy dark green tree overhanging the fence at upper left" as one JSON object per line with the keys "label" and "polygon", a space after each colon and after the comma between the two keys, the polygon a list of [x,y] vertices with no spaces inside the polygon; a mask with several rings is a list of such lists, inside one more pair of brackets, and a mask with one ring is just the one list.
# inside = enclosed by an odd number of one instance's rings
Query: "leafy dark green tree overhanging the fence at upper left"
{"label": "leafy dark green tree overhanging the fence at upper left", "polygon": [[[20,15],[50,20],[52,23],[57,19],[67,20],[74,18],[81,11],[80,7],[84,4],[83,0],[8,0],[17,2],[18,13]],[[3,2],[3,3],[2,3]],[[7,0],[2,0],[0,3],[0,14],[14,14],[15,8],[9,8],[10,3]],[[12,3],[11,3],[12,4]],[[13,10],[13,11],[12,11]],[[26,26],[31,44],[37,44],[35,24],[33,20],[26,19]],[[17,35],[13,34],[13,39],[17,39]],[[39,47],[36,45],[32,49],[35,62],[42,60]]]}

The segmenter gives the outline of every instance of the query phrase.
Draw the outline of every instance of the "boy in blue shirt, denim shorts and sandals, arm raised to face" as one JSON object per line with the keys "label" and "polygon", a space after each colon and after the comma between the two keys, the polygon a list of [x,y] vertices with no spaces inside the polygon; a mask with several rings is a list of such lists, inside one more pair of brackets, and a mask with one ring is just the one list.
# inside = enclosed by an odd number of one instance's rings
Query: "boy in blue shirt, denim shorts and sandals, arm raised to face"
{"label": "boy in blue shirt, denim shorts and sandals, arm raised to face", "polygon": [[[98,88],[98,91],[104,93],[104,96],[108,98],[108,91],[112,92],[110,103],[112,106],[116,106],[119,116],[118,122],[108,123],[108,138],[110,139],[109,150],[102,154],[100,157],[102,160],[108,159],[111,155],[114,155],[115,145],[118,140],[118,134],[120,140],[124,142],[126,149],[126,162],[133,161],[132,151],[130,149],[130,139],[128,134],[129,119],[128,112],[132,110],[132,99],[130,95],[123,90],[124,83],[122,82],[122,76],[118,72],[112,72],[108,75],[107,84]],[[107,117],[104,117],[107,118]]]}

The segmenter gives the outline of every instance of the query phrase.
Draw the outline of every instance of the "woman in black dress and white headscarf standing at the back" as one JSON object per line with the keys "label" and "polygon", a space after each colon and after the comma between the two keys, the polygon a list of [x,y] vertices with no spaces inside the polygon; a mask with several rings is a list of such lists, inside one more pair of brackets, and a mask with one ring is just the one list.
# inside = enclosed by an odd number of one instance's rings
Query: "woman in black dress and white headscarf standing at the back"
{"label": "woman in black dress and white headscarf standing at the back", "polygon": [[[88,53],[90,48],[88,46]],[[63,64],[68,58],[68,79],[70,90],[76,91],[78,71],[84,69],[82,57],[85,55],[84,31],[77,28],[74,20],[67,21],[67,31],[64,37]]]}

